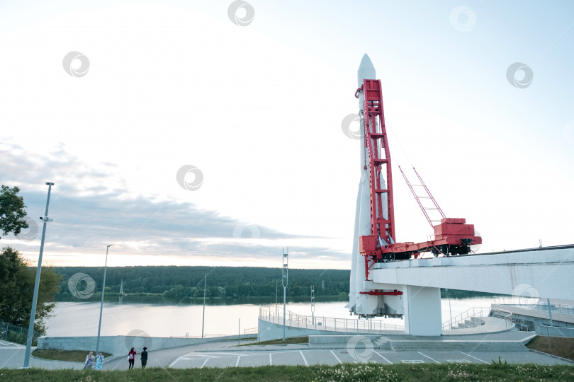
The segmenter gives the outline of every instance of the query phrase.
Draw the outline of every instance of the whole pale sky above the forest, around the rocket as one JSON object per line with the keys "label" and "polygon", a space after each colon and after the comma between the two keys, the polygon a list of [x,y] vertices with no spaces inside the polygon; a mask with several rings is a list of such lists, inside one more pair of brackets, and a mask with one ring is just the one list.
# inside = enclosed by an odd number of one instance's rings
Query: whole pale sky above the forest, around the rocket
{"label": "whole pale sky above the forest, around the rocket", "polygon": [[365,53],[396,241],[432,234],[414,166],[479,253],[574,243],[571,1],[2,0],[0,52],[33,263],[53,182],[45,264],[350,269]]}

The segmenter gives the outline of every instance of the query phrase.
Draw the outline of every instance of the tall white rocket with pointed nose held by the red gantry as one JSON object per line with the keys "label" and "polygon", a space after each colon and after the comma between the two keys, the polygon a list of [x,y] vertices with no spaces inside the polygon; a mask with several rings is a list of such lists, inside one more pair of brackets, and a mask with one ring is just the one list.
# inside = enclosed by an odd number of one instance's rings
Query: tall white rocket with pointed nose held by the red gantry
{"label": "tall white rocket with pointed nose held by the red gantry", "polygon": [[[376,79],[376,71],[371,59],[367,54],[361,59],[359,71],[357,71],[357,87],[361,88],[364,79]],[[373,289],[396,289],[398,286],[378,284],[366,281],[365,260],[359,253],[359,236],[371,235],[371,200],[368,152],[365,146],[365,120],[363,115],[364,93],[359,92],[359,120],[361,131],[361,180],[359,182],[359,194],[356,198],[355,228],[353,237],[353,254],[351,256],[351,282],[349,287],[349,311],[361,316],[385,316],[400,315],[403,313],[403,299],[400,296],[373,296],[361,294],[361,291],[373,291]],[[366,163],[367,161],[367,163]],[[384,174],[381,174],[381,183],[385,187]],[[383,198],[386,204],[386,198]],[[383,206],[383,216],[386,218],[386,205]],[[385,297],[385,299],[383,299]]]}

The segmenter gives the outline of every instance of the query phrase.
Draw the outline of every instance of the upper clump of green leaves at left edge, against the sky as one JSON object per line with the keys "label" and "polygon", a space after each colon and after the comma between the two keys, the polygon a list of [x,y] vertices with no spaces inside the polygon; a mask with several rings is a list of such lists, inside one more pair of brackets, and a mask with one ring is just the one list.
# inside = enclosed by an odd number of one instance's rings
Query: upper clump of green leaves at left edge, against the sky
{"label": "upper clump of green leaves at left edge, against the sky", "polygon": [[22,228],[28,228],[26,223],[26,204],[18,196],[20,188],[3,185],[0,190],[0,231],[6,236],[8,233],[18,235]]}

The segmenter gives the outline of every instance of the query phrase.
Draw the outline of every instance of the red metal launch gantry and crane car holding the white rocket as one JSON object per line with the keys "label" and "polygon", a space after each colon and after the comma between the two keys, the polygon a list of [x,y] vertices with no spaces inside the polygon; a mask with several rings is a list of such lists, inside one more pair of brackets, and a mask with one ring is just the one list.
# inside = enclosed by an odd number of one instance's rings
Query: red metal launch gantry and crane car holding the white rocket
{"label": "red metal launch gantry and crane car holding the white rocket", "polygon": [[[407,180],[407,185],[409,185],[422,212],[427,217],[427,221],[434,228],[434,239],[425,243],[395,243],[393,175],[391,173],[390,152],[385,127],[381,81],[364,79],[363,85],[355,93],[357,98],[360,91],[364,93],[362,110],[365,123],[364,155],[368,156],[368,158],[365,158],[365,163],[368,163],[371,187],[371,234],[359,237],[359,252],[365,257],[366,279],[368,279],[368,270],[376,262],[407,260],[411,256],[417,258],[424,252],[432,252],[435,256],[439,254],[450,256],[470,253],[469,247],[471,243],[482,243],[482,238],[475,234],[473,224],[466,224],[465,219],[446,218],[416,170],[417,177],[421,181],[427,195],[429,195],[429,199],[432,200],[440,212],[442,219],[440,224],[433,226],[433,221],[422,206],[420,197],[417,197],[403,170],[401,170],[405,180]],[[384,180],[381,180],[383,166],[384,170],[386,170],[386,185]],[[383,293],[393,294],[393,292],[370,292],[370,294]],[[395,291],[394,294],[400,294],[400,291]]]}

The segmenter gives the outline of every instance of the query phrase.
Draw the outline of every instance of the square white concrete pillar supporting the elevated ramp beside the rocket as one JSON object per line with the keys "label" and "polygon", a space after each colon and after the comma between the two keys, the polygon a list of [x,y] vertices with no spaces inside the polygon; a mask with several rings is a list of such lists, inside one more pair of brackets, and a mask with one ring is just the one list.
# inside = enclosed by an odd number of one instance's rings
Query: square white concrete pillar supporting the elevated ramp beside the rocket
{"label": "square white concrete pillar supporting the elevated ramp beside the rocket", "polygon": [[405,285],[405,334],[441,335],[441,289]]}

